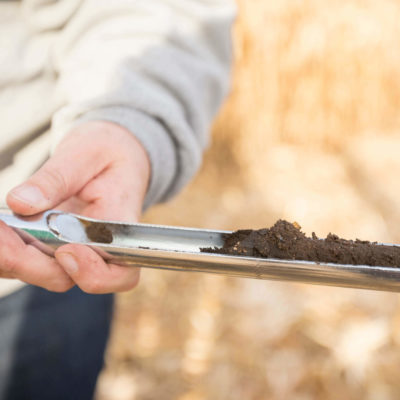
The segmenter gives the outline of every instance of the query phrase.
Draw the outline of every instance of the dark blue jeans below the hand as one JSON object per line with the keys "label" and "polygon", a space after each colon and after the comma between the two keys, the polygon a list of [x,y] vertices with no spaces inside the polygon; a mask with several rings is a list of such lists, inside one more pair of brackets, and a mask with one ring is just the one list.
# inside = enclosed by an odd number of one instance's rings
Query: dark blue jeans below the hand
{"label": "dark blue jeans below the hand", "polygon": [[27,286],[0,299],[0,400],[86,400],[103,366],[112,295]]}

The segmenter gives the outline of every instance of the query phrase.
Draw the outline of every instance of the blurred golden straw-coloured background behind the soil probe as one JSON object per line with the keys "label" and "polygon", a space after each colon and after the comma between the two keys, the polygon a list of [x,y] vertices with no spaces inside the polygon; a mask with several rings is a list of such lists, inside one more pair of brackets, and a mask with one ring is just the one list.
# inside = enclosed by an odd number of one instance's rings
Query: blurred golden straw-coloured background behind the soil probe
{"label": "blurred golden straw-coloured background behind the soil probe", "polygon": [[[400,4],[240,0],[202,170],[146,222],[400,243]],[[98,400],[400,398],[391,293],[145,270]]]}

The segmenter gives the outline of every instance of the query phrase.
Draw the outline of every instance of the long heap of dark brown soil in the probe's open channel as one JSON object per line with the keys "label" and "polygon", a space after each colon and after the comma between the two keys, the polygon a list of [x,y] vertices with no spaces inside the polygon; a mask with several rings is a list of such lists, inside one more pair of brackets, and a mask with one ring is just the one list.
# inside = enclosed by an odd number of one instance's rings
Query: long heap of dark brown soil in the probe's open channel
{"label": "long heap of dark brown soil in the probe's open channel", "polygon": [[222,248],[203,252],[245,257],[319,261],[336,264],[400,267],[400,247],[376,242],[345,240],[330,233],[319,239],[313,232],[307,237],[297,223],[279,220],[270,229],[239,230],[224,237]]}

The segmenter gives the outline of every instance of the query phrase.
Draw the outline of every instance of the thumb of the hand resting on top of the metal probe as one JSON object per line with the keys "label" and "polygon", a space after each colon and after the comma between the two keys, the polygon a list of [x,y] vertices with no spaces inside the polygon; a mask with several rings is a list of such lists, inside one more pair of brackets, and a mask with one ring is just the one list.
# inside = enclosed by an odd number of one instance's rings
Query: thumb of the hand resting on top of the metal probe
{"label": "thumb of the hand resting on top of the metal probe", "polygon": [[101,160],[90,149],[64,146],[26,182],[8,193],[7,204],[22,215],[54,208],[78,193],[106,167]]}

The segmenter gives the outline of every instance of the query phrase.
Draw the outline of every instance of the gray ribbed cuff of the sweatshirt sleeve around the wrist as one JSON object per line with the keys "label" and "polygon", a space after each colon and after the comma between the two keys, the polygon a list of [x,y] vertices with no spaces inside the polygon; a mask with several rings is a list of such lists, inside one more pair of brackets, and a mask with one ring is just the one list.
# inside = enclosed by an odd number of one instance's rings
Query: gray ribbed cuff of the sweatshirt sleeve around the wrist
{"label": "gray ribbed cuff of the sweatshirt sleeve around the wrist", "polygon": [[[140,141],[151,164],[151,177],[143,208],[168,198],[178,170],[175,145],[168,130],[155,118],[128,107],[105,107],[89,111],[68,126],[53,126],[53,149],[77,125],[90,121],[114,122]],[[60,121],[57,121],[60,122]],[[93,138],[93,140],[96,140]]]}

